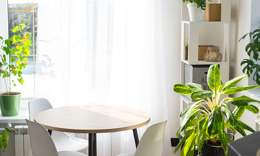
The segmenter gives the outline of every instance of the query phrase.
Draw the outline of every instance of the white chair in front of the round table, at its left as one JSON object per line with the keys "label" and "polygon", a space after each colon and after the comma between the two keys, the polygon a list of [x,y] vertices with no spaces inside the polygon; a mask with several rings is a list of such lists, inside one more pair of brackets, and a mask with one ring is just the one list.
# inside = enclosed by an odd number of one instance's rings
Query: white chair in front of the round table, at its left
{"label": "white chair in front of the round table, at its left", "polygon": [[36,122],[25,119],[30,133],[31,147],[34,156],[86,156],[75,151],[57,151],[46,128]]}

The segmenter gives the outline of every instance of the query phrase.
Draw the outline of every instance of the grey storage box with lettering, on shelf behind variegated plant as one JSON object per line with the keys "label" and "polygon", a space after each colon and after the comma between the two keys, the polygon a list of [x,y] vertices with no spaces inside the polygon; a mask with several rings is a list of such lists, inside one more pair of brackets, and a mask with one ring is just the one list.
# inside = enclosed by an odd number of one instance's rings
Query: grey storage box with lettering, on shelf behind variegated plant
{"label": "grey storage box with lettering, on shelf behind variegated plant", "polygon": [[[197,83],[201,84],[203,90],[211,91],[207,83],[207,75],[211,65],[188,65],[184,64],[184,84]],[[198,100],[191,99],[191,95],[184,95],[184,97],[195,102]]]}

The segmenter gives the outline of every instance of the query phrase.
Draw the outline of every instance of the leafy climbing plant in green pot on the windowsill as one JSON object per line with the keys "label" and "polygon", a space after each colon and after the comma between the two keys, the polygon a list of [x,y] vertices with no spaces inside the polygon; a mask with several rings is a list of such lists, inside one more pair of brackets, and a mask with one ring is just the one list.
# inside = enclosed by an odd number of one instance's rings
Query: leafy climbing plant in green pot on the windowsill
{"label": "leafy climbing plant in green pot on the windowsill", "polygon": [[[9,39],[4,40],[0,36],[0,47],[2,53],[0,54],[0,76],[5,82],[6,92],[0,93],[0,109],[2,116],[16,116],[19,113],[21,93],[11,92],[11,84],[8,83],[9,78],[10,82],[13,83],[14,87],[16,86],[15,80],[23,85],[23,78],[21,69],[25,68],[27,65],[26,56],[30,55],[31,45],[31,33],[22,32],[25,28],[24,24],[16,26],[12,33],[14,34]],[[13,44],[16,44],[16,47],[10,47],[10,41],[13,41]]]}

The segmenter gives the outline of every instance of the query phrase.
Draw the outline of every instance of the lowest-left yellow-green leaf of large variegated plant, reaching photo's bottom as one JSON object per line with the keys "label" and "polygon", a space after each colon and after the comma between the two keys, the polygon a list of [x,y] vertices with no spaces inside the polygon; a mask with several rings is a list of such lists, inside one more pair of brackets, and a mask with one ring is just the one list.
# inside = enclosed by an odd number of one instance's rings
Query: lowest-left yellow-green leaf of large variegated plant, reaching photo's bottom
{"label": "lowest-left yellow-green leaf of large variegated plant, reaching photo's bottom", "polygon": [[193,134],[187,139],[185,142],[183,149],[180,152],[180,156],[193,156],[194,155],[194,149],[195,149],[195,140],[196,140],[197,134],[193,132]]}

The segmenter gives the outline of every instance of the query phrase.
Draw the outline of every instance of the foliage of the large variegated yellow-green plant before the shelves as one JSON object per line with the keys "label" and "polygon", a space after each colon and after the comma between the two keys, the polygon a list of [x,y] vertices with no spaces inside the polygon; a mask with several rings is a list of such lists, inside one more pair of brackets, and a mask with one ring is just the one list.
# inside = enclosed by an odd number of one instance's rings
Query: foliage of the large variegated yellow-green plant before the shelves
{"label": "foliage of the large variegated yellow-green plant before the shelves", "polygon": [[[177,136],[181,140],[174,151],[175,153],[179,150],[181,145],[185,143],[180,156],[193,156],[195,148],[200,151],[204,140],[209,138],[213,144],[216,143],[219,139],[226,156],[228,156],[227,143],[231,140],[228,137],[225,129],[230,129],[234,134],[237,131],[243,136],[246,135],[244,129],[255,132],[253,128],[246,125],[239,119],[243,115],[245,109],[255,114],[259,113],[259,109],[253,104],[260,103],[260,101],[249,98],[247,96],[235,98],[226,97],[223,100],[220,99],[222,94],[235,94],[245,90],[260,87],[234,87],[235,84],[237,84],[246,76],[247,75],[244,74],[223,84],[220,79],[218,65],[214,64],[210,66],[207,76],[208,85],[212,92],[204,91],[202,86],[196,83],[187,83],[187,86],[183,84],[174,85],[174,92],[191,95],[192,99],[200,99],[180,113],[179,117],[183,117],[183,121],[179,126]],[[204,98],[207,100],[204,100]],[[209,109],[206,109],[205,106],[202,105],[202,102],[206,103]],[[234,111],[229,109],[228,103],[236,106]],[[204,108],[204,110],[199,108]],[[198,116],[199,112],[203,113]],[[224,120],[223,114],[227,117],[227,120]],[[184,130],[186,130],[186,133],[182,138],[180,133]]]}

